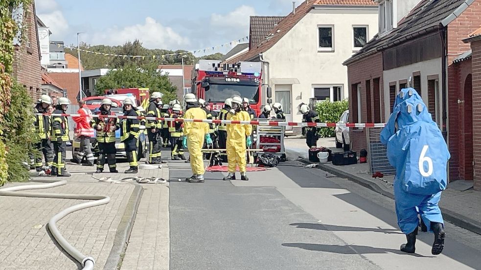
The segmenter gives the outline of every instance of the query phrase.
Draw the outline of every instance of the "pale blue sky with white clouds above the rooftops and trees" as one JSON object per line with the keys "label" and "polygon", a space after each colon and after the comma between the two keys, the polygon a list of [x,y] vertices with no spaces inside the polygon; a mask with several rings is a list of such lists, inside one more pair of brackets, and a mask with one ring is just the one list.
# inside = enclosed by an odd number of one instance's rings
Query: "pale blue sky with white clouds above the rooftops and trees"
{"label": "pale blue sky with white clouds above the rooftops and trees", "polygon": [[76,33],[84,32],[80,41],[91,45],[139,39],[150,49],[189,51],[249,36],[252,15],[285,16],[292,11],[292,0],[35,0],[35,5],[52,32],[51,41],[76,45]]}

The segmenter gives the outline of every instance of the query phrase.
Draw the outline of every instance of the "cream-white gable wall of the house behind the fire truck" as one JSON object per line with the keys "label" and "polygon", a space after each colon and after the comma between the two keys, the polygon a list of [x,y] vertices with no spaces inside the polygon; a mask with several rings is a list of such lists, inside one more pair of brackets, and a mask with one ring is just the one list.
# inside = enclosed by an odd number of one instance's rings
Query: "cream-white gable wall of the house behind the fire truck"
{"label": "cream-white gable wall of the house behind the fire truck", "polygon": [[[334,25],[334,52],[318,52],[318,25]],[[269,78],[275,98],[273,79],[298,79],[292,85],[293,121],[300,122],[301,103],[314,97],[312,86],[343,85],[344,99],[348,98],[347,67],[342,63],[352,56],[353,25],[367,25],[368,40],[378,31],[378,10],[313,9],[301,19],[272,48],[264,52],[269,62]],[[275,101],[274,101],[275,102]]]}

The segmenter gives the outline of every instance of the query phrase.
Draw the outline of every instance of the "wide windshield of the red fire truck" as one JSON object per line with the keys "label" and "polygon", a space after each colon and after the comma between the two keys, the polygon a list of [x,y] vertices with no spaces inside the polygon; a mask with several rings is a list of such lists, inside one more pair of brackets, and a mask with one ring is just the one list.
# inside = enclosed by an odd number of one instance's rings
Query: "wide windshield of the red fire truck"
{"label": "wide windshield of the red fire truck", "polygon": [[251,104],[259,101],[259,83],[253,80],[229,80],[229,78],[210,79],[210,89],[206,91],[205,100],[208,102],[224,102],[226,99],[238,95],[248,98]]}

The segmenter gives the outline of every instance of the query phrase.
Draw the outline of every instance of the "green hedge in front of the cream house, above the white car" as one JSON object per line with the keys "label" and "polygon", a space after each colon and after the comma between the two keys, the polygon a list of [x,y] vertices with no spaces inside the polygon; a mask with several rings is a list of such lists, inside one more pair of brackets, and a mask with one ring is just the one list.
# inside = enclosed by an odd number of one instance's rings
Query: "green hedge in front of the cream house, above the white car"
{"label": "green hedge in front of the cream house, above the white car", "polygon": [[[337,123],[347,109],[349,109],[348,100],[335,102],[326,100],[316,104],[316,111],[321,123]],[[334,127],[322,127],[318,134],[321,138],[334,137]]]}

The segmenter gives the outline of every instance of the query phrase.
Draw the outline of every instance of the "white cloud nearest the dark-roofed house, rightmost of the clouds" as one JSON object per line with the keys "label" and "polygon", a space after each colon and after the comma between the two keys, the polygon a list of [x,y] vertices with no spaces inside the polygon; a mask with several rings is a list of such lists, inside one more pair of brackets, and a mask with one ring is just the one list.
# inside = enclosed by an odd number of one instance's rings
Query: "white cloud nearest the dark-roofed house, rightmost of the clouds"
{"label": "white cloud nearest the dark-roofed house, rightmost of the clouds", "polygon": [[249,30],[249,17],[255,15],[252,6],[241,5],[226,15],[213,13],[210,24],[214,27],[230,28],[234,30]]}

